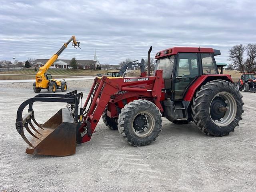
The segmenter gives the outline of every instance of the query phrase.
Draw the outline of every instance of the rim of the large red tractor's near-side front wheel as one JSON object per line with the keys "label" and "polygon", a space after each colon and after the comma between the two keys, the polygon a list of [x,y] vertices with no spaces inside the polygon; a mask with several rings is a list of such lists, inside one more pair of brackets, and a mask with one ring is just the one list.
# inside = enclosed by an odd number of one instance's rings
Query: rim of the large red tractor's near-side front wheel
{"label": "rim of the large red tractor's near-side front wheel", "polygon": [[137,113],[132,120],[132,131],[138,137],[149,136],[155,126],[155,119],[150,112],[142,111]]}

